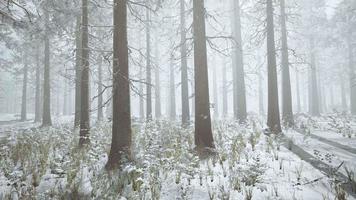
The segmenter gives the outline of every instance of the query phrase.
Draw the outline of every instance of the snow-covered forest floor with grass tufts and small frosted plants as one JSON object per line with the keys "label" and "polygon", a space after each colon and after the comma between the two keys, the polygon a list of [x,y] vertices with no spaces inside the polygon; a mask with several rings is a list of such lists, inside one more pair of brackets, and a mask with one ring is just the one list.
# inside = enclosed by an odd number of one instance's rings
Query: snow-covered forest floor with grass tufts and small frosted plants
{"label": "snow-covered forest floor with grass tufts and small frosted plants", "polygon": [[[356,189],[356,121],[343,115],[299,116],[298,128],[285,136],[265,135],[257,117],[244,127],[214,121],[216,154],[206,158],[193,149],[192,127],[135,122],[133,161],[110,173],[104,168],[110,122],[95,124],[91,145],[80,150],[71,119],[54,121],[52,128],[2,122],[0,199],[354,199],[342,186]],[[293,145],[329,165],[329,173],[296,155]]]}

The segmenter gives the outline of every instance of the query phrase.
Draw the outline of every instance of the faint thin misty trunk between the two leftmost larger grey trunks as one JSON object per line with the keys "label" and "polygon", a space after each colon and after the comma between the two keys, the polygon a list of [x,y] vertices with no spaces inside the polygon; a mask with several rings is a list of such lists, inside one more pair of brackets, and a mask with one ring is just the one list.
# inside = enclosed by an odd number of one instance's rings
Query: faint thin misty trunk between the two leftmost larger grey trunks
{"label": "faint thin misty trunk between the two leftmost larger grey trunks", "polygon": [[40,47],[36,46],[36,97],[35,97],[35,122],[41,122],[41,65],[40,65]]}

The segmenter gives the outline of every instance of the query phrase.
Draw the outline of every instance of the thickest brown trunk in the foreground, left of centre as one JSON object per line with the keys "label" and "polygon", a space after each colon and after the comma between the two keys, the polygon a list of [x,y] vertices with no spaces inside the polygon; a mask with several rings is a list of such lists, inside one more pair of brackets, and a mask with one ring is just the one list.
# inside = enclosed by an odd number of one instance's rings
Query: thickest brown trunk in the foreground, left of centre
{"label": "thickest brown trunk in the foreground, left of centre", "polygon": [[113,123],[107,169],[130,159],[131,111],[126,0],[114,0]]}

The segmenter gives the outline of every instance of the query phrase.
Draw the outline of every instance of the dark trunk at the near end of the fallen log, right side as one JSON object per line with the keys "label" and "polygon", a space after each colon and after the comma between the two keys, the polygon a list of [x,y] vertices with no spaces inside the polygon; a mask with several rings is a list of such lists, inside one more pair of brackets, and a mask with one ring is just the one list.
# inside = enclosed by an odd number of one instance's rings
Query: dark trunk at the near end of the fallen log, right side
{"label": "dark trunk at the near end of the fallen log, right side", "polygon": [[268,60],[268,111],[267,126],[272,133],[282,131],[279,116],[276,47],[274,43],[273,2],[267,0],[267,60]]}

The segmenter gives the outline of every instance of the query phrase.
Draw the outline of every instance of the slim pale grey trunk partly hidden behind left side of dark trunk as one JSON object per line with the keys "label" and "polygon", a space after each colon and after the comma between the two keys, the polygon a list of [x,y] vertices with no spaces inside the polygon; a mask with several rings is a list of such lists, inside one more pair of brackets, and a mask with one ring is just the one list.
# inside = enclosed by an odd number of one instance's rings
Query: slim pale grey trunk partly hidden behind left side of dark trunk
{"label": "slim pale grey trunk partly hidden behind left side of dark trunk", "polygon": [[81,63],[81,51],[82,51],[82,39],[81,39],[81,15],[77,16],[76,30],[75,30],[75,109],[74,109],[74,127],[78,127],[80,124],[80,82],[82,74],[82,63]]}

